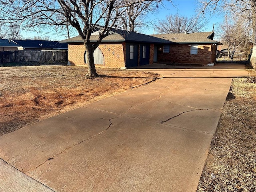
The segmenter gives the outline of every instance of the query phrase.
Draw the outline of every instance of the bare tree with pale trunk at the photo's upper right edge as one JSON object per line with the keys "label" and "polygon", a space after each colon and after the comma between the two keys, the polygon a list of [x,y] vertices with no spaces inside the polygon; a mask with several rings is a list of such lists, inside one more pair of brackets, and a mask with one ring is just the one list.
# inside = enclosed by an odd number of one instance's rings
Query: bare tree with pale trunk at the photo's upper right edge
{"label": "bare tree with pale trunk at the photo's upper right edge", "polygon": [[243,16],[251,23],[252,42],[256,46],[256,1],[255,0],[198,0],[198,12],[202,14],[225,14],[230,18]]}

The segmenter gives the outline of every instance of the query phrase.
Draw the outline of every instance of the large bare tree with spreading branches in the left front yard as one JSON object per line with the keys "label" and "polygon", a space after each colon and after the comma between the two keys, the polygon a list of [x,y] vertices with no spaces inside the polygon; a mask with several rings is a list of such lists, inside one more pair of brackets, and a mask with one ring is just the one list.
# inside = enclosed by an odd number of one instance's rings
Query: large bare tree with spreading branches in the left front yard
{"label": "large bare tree with spreading branches in the left front yard", "polygon": [[[88,74],[97,76],[93,52],[108,36],[116,20],[129,6],[138,2],[162,0],[0,0],[0,22],[21,22],[26,27],[74,27],[87,52]],[[17,11],[18,10],[18,11]],[[91,44],[90,36],[98,30],[98,40]]]}

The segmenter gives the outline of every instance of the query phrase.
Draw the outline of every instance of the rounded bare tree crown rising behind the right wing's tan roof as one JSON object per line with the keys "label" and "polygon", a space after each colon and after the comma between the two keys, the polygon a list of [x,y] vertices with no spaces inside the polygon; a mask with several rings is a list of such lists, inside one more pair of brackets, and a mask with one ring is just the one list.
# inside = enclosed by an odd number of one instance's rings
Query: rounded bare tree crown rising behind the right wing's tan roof
{"label": "rounded bare tree crown rising behind the right wing's tan roof", "polygon": [[154,24],[154,27],[158,33],[184,33],[185,31],[190,33],[204,31],[206,24],[206,21],[198,17],[188,18],[176,13],[167,15],[166,18]]}

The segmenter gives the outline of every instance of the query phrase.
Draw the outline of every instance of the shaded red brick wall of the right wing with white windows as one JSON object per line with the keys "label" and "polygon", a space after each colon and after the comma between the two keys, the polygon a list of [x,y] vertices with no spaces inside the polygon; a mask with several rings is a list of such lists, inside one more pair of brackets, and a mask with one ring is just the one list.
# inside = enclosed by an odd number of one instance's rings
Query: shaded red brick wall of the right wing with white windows
{"label": "shaded red brick wall of the right wing with white windows", "polygon": [[190,55],[190,44],[171,44],[170,53],[163,53],[163,46],[158,46],[158,62],[208,64],[215,62],[214,50],[211,44],[198,44],[198,54]]}

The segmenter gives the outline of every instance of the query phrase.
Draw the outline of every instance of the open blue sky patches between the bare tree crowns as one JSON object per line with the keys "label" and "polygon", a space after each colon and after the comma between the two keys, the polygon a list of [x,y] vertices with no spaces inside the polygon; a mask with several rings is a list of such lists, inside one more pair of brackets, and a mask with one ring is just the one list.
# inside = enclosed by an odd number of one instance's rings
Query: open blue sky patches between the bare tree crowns
{"label": "open blue sky patches between the bare tree crowns", "polygon": [[[162,20],[165,18],[168,14],[176,14],[179,13],[181,16],[195,16],[197,14],[196,8],[197,8],[197,0],[173,0],[173,5],[170,2],[164,2],[164,7],[160,7],[157,14],[150,14],[148,15],[149,20],[153,22],[157,22],[157,20]],[[219,15],[213,15],[209,16],[206,15],[206,20],[208,21],[208,24],[206,26],[206,32],[212,31],[213,24],[214,28],[216,28],[216,25],[222,21],[222,16]],[[78,34],[73,30],[72,27],[70,27],[70,37],[77,36]],[[215,30],[215,29],[214,29]],[[140,31],[144,34],[153,34],[154,27],[149,26],[148,28],[144,28]],[[22,36],[24,38],[33,38],[34,36],[49,36],[50,40],[64,40],[67,39],[67,32],[66,29],[60,30],[56,32],[56,30],[53,28],[51,30],[48,29],[40,29],[40,30],[32,30],[32,31],[22,31]]]}

